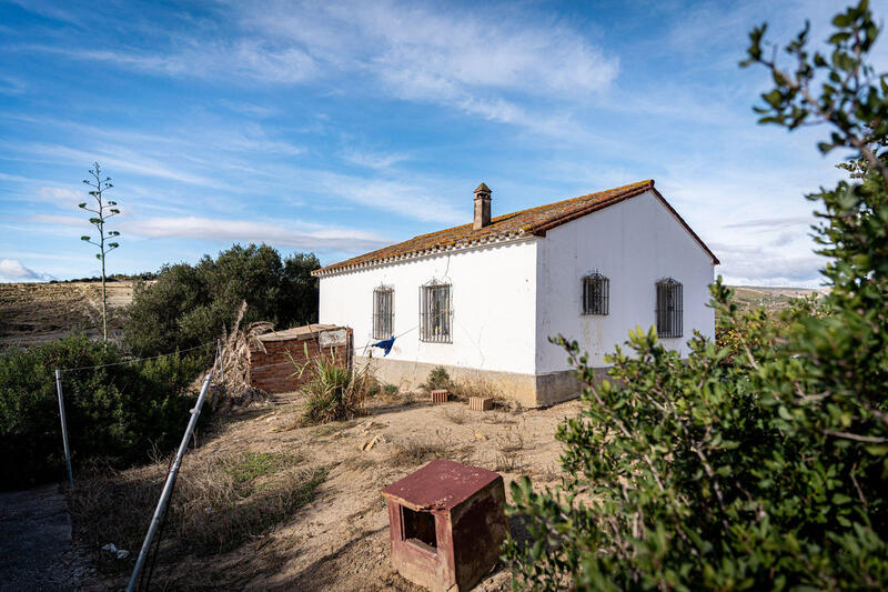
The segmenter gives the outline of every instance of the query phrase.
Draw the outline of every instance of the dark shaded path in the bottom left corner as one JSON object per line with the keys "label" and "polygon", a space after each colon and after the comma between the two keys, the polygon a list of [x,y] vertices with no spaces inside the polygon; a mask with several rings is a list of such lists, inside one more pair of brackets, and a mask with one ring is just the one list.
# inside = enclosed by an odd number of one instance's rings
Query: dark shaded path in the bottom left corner
{"label": "dark shaded path in the bottom left corner", "polygon": [[57,485],[0,493],[0,591],[79,590],[90,572]]}

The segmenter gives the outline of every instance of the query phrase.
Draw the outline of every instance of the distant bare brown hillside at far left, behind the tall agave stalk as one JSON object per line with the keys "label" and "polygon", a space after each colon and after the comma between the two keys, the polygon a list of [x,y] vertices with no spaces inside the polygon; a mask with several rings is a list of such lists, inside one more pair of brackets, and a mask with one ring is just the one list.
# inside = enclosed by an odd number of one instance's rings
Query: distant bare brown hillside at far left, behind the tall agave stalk
{"label": "distant bare brown hillside at far left, behind the tall agave stalk", "polygon": [[[107,284],[109,332],[120,332],[120,309],[132,301],[133,282]],[[32,345],[80,330],[102,332],[102,288],[98,282],[0,283],[0,347]]]}

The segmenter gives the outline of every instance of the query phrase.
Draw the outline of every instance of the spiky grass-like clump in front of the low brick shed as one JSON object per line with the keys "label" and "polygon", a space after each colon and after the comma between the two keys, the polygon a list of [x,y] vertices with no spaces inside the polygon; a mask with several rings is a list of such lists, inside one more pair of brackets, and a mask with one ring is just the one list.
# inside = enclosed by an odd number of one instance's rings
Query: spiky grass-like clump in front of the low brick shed
{"label": "spiky grass-like clump in front of the low brick shed", "polygon": [[305,424],[350,420],[364,412],[364,402],[380,391],[369,367],[354,372],[333,357],[319,355],[294,364],[296,374],[307,377],[302,385],[306,400],[302,411]]}

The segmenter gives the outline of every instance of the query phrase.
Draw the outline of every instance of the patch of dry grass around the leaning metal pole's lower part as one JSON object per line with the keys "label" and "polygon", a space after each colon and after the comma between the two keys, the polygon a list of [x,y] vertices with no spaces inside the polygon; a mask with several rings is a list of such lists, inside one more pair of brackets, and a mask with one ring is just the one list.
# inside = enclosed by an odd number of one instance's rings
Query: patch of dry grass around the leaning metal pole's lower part
{"label": "patch of dry grass around the leaning metal pole's lower part", "polygon": [[[299,466],[297,456],[253,452],[189,455],[182,465],[163,528],[158,564],[181,553],[209,555],[261,536],[310,502],[325,469]],[[71,494],[78,539],[97,549],[112,542],[141,546],[158,503],[168,463],[83,479]],[[129,570],[105,559],[105,571]]]}

